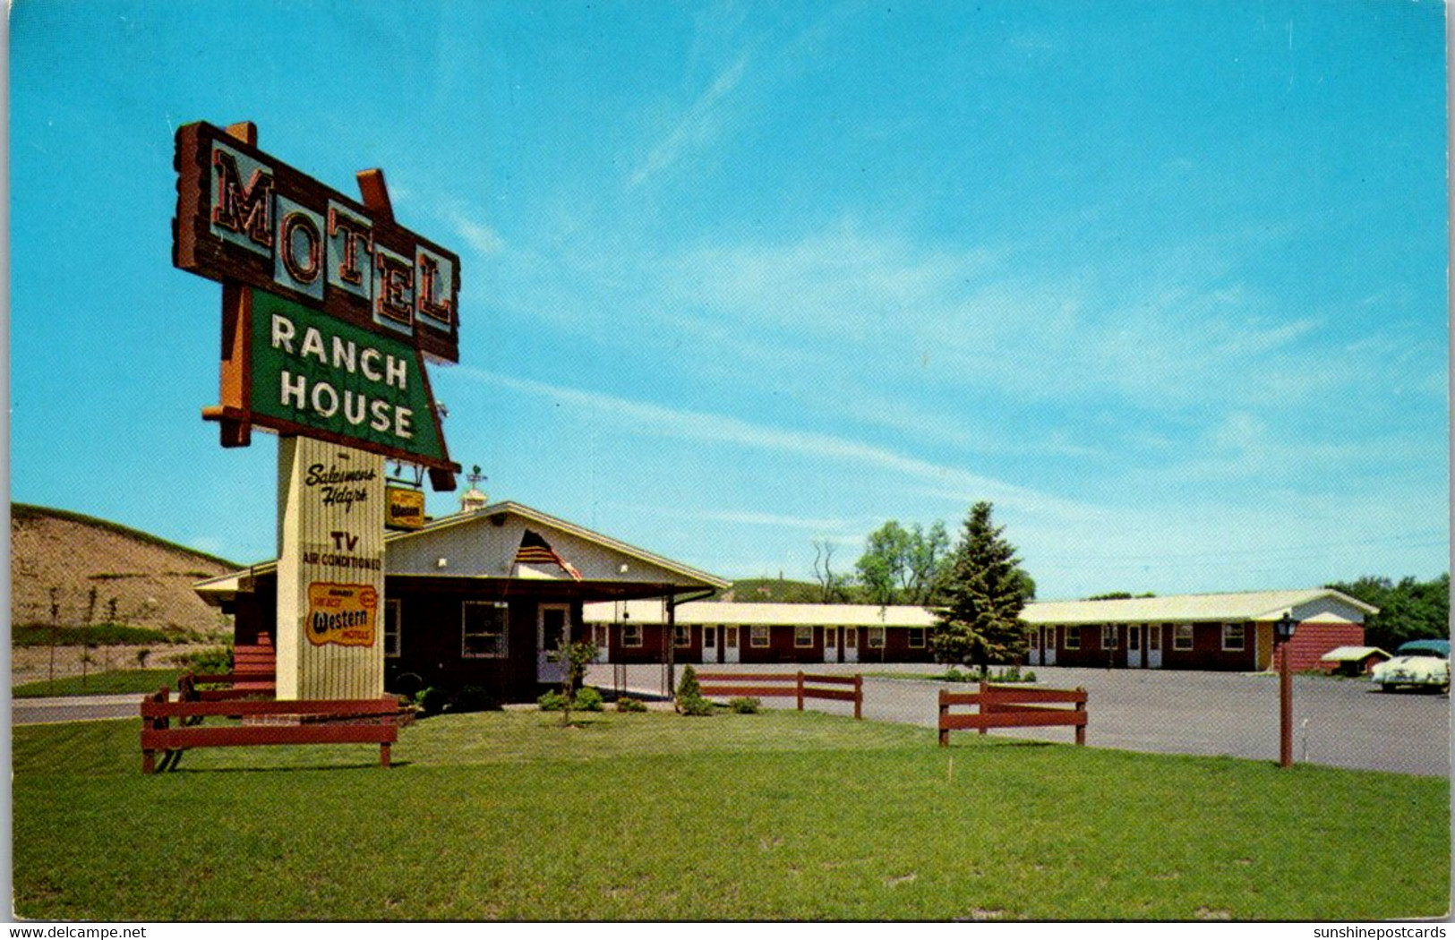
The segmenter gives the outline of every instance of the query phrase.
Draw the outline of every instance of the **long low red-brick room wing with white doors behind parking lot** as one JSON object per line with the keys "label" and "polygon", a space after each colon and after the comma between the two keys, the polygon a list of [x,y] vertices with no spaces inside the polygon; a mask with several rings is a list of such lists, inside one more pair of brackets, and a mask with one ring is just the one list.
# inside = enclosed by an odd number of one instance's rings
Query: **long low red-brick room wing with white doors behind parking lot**
{"label": "long low red-brick room wing with white doors behind parking lot", "polygon": [[[1120,601],[1032,602],[1024,664],[1131,669],[1273,666],[1273,623],[1298,621],[1289,648],[1295,671],[1363,643],[1363,618],[1378,613],[1328,588],[1199,594]],[[586,623],[605,629],[614,662],[659,662],[656,602],[589,604]],[[672,659],[693,664],[933,662],[934,613],[867,604],[738,604],[695,601],[672,611]]]}

